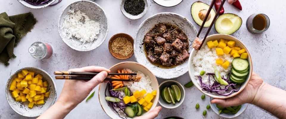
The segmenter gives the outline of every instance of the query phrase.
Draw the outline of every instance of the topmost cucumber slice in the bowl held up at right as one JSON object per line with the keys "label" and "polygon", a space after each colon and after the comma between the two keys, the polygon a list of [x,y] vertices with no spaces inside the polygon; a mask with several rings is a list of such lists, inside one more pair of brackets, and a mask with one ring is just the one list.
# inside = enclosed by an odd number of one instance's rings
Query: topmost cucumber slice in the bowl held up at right
{"label": "topmost cucumber slice in the bowl held up at right", "polygon": [[234,69],[236,69],[237,71],[243,71],[246,70],[248,68],[248,61],[245,59],[241,59],[241,58],[234,58],[232,60],[232,66]]}

